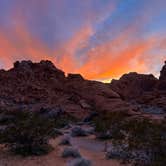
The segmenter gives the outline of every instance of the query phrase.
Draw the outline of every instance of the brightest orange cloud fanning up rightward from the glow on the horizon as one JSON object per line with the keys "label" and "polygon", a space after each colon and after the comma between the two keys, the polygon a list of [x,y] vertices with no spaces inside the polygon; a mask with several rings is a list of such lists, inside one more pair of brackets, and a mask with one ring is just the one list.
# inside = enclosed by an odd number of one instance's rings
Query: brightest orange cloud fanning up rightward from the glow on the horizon
{"label": "brightest orange cloud fanning up rightward from the glow on the horizon", "polygon": [[[128,34],[88,52],[87,62],[78,70],[88,79],[117,78],[130,71],[147,71],[143,55],[163,41],[160,37],[130,41]],[[123,47],[124,46],[124,47]]]}

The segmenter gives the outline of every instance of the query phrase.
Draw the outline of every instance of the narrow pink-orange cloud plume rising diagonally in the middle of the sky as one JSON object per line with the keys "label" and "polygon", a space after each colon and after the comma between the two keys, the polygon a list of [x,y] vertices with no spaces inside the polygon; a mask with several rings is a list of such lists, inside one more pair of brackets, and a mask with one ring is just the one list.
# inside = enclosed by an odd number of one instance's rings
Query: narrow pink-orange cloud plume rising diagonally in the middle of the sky
{"label": "narrow pink-orange cloud plume rising diagonally in the middle of the sky", "polygon": [[61,48],[55,51],[55,54],[59,56],[59,61],[57,61],[58,67],[67,72],[74,72],[79,63],[76,53],[87,45],[87,40],[92,34],[93,29],[90,25],[87,25],[76,32],[71,39],[63,43]]}

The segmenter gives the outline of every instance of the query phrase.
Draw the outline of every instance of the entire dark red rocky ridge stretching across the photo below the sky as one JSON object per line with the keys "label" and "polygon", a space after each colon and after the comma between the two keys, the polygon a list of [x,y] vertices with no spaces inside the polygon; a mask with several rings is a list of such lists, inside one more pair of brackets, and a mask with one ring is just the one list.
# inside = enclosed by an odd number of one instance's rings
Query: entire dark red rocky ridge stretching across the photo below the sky
{"label": "entire dark red rocky ridge stretching across the photo below the sky", "polygon": [[166,93],[162,90],[165,67],[161,75],[158,80],[153,75],[129,73],[105,84],[86,80],[80,74],[65,76],[48,60],[17,61],[12,69],[0,70],[0,108],[32,111],[60,108],[82,120],[107,111],[136,116],[139,108],[132,100],[166,109]]}

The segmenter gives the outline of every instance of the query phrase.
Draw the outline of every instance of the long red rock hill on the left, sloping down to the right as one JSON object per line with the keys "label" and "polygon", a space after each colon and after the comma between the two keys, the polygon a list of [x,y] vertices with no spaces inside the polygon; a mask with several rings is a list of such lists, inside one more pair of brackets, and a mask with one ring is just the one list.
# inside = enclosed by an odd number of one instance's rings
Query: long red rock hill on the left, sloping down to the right
{"label": "long red rock hill on the left, sloping down to the right", "polygon": [[35,111],[57,106],[78,118],[94,111],[132,111],[109,85],[85,80],[79,74],[65,77],[50,61],[17,61],[12,69],[0,70],[2,109]]}

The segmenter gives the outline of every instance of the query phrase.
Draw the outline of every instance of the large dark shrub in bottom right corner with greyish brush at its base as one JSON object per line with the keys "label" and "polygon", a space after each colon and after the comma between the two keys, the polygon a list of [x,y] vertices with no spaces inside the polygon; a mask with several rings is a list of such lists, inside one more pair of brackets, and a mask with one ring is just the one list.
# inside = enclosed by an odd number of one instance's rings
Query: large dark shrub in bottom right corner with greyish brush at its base
{"label": "large dark shrub in bottom right corner with greyish brush at its base", "polygon": [[[166,164],[166,123],[144,118],[126,119],[119,128],[123,137],[113,137],[114,146],[126,146],[126,160],[133,165],[164,166]],[[120,138],[120,139],[119,139]]]}

